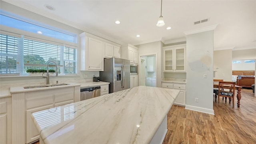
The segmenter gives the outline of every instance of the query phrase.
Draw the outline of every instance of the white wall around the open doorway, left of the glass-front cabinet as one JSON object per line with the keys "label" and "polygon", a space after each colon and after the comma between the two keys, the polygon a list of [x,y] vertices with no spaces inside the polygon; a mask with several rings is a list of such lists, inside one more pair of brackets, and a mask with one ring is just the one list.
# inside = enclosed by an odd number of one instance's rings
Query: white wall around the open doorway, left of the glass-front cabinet
{"label": "white wall around the open doorway, left of the glass-front cabinet", "polygon": [[[140,56],[143,55],[152,55],[152,54],[156,54],[156,61],[157,61],[157,66],[156,66],[156,78],[157,78],[157,82],[156,82],[156,87],[161,87],[161,49],[162,49],[162,42],[158,41],[158,42],[150,42],[147,44],[140,44],[136,46],[138,48],[138,53],[139,53],[139,58]],[[140,64],[139,64],[140,66]]]}

